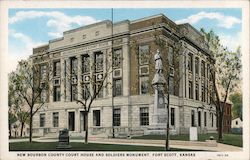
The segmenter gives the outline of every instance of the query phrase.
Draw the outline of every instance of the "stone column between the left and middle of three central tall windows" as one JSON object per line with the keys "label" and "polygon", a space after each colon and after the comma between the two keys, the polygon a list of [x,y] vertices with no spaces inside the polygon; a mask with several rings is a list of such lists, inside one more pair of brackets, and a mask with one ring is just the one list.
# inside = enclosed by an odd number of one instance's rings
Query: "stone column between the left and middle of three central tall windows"
{"label": "stone column between the left and middle of three central tall windows", "polygon": [[82,55],[77,55],[77,99],[82,99]]}

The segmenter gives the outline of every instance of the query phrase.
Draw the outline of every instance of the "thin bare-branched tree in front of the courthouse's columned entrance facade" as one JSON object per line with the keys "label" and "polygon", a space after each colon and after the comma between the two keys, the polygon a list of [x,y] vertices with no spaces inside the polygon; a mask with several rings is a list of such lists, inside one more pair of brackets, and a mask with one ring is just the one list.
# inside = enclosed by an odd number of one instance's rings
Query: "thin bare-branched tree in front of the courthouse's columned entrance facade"
{"label": "thin bare-branched tree in front of the courthouse's columned entrance facade", "polygon": [[[101,53],[98,55],[96,53],[94,56],[95,61],[91,59],[90,55],[83,55],[81,58],[83,60],[82,67],[78,68],[79,62],[77,60],[75,62],[71,62],[71,66],[66,67],[66,79],[69,83],[73,83],[76,81],[77,75],[79,73],[83,77],[78,77],[77,80],[80,81],[80,88],[81,91],[77,89],[72,89],[72,85],[68,86],[71,87],[71,94],[75,95],[72,101],[75,101],[77,104],[80,104],[83,108],[83,118],[84,118],[84,130],[85,130],[85,143],[88,143],[88,115],[90,109],[92,108],[93,102],[97,98],[103,97],[103,89],[106,88],[107,90],[113,88],[112,84],[112,73],[115,69],[114,62],[119,59],[120,63],[122,61],[122,57],[119,55],[113,54],[113,50]],[[104,55],[105,54],[105,55]],[[100,56],[100,57],[97,57]],[[117,57],[118,56],[118,57]],[[79,71],[80,69],[80,71]],[[82,79],[82,80],[81,80]],[[114,90],[112,91],[113,94]],[[80,96],[77,96],[80,95]],[[113,95],[112,95],[113,96]]]}

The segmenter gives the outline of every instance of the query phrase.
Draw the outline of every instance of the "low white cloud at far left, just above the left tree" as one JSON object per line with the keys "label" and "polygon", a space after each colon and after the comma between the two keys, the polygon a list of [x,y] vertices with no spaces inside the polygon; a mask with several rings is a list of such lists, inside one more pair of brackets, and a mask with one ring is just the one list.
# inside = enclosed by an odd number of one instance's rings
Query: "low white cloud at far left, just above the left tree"
{"label": "low white cloud at far left, just above the left tree", "polygon": [[18,43],[23,47],[19,47],[13,45],[14,43],[10,43],[11,46],[9,46],[8,60],[11,63],[9,63],[7,66],[8,72],[14,71],[16,69],[18,61],[21,59],[27,59],[30,55],[32,55],[32,50],[34,47],[45,44],[44,42],[35,42],[29,36],[20,32],[16,32],[15,30],[9,30],[9,36],[17,40]]}

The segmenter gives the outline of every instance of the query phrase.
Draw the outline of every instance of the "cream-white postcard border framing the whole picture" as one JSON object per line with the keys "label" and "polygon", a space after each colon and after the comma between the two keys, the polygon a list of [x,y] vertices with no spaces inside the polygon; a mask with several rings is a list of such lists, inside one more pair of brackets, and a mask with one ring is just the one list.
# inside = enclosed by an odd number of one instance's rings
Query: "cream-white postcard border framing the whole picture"
{"label": "cream-white postcard border framing the whole picture", "polygon": [[[56,7],[55,7],[56,6]],[[56,157],[56,159],[222,159],[249,160],[249,1],[0,1],[0,159],[25,159],[9,152],[8,145],[8,80],[4,66],[8,62],[8,9],[11,8],[242,8],[242,62],[243,62],[243,151],[195,152],[195,157]],[[32,152],[33,153],[33,152]],[[41,152],[36,152],[41,153]],[[42,152],[49,153],[49,152]],[[58,152],[54,152],[58,153]],[[64,152],[66,153],[66,152]],[[80,152],[74,152],[80,153]],[[88,152],[94,153],[94,152]],[[109,153],[109,152],[103,152]],[[152,152],[148,152],[152,154]],[[179,153],[179,152],[177,152]],[[192,152],[194,153],[194,152]],[[228,157],[225,157],[225,154]],[[221,155],[221,156],[219,156]],[[223,156],[224,155],[224,156]],[[26,157],[27,158],[27,157]],[[48,157],[47,157],[48,158]],[[29,159],[47,159],[31,157]],[[55,157],[50,157],[55,159]]]}

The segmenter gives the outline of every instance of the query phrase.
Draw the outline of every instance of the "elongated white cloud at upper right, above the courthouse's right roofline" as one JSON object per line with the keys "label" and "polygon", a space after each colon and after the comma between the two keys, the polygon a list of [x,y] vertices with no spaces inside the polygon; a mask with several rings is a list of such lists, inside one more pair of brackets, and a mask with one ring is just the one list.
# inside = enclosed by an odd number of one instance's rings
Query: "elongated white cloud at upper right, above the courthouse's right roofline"
{"label": "elongated white cloud at upper right, above the courthouse's right roofline", "polygon": [[222,28],[232,28],[235,24],[240,24],[241,20],[233,16],[225,16],[219,12],[199,12],[185,19],[175,21],[177,24],[190,23],[196,24],[203,19],[217,20],[218,26]]}

